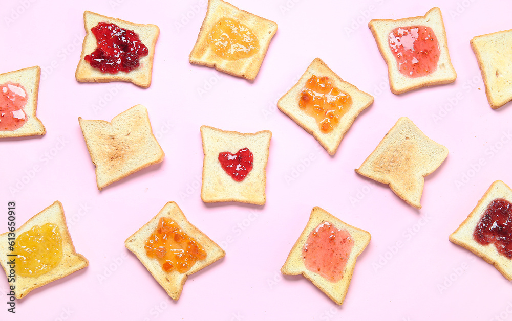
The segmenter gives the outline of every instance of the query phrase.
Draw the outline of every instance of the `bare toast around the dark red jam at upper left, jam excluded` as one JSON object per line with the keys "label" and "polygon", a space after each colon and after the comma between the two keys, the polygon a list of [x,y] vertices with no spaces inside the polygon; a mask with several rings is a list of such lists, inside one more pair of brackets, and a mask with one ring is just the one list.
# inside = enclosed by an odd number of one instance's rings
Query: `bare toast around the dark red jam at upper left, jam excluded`
{"label": "bare toast around the dark red jam at upper left, jam excluded", "polygon": [[[95,27],[99,22],[116,24],[123,29],[134,31],[139,36],[140,41],[147,47],[148,54],[139,58],[140,65],[137,68],[128,73],[123,71],[119,71],[117,74],[102,73],[98,68],[91,67],[91,64],[83,59],[97,48],[96,37],[92,33],[91,28]],[[143,88],[151,85],[153,57],[155,56],[155,46],[160,34],[160,29],[157,26],[134,24],[102,16],[91,11],[83,13],[83,25],[86,28],[87,34],[83,39],[83,49],[75,72],[76,80],[79,82],[127,81]]]}

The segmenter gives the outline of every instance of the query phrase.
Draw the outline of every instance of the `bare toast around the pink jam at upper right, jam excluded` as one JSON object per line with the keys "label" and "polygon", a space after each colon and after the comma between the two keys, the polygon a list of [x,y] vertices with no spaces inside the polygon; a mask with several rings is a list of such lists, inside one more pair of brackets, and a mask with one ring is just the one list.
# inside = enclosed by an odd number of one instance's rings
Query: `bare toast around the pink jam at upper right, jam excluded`
{"label": "bare toast around the pink jam at upper right, jam excluded", "polygon": [[[426,76],[416,78],[404,76],[400,73],[389,43],[389,35],[393,29],[412,26],[430,27],[437,38],[440,51],[436,70]],[[448,84],[454,82],[457,78],[457,73],[450,60],[446,32],[444,31],[443,18],[439,8],[430,9],[423,17],[398,20],[374,19],[369,22],[368,27],[370,27],[375,37],[382,58],[388,64],[389,85],[393,94],[398,95],[425,86]]]}

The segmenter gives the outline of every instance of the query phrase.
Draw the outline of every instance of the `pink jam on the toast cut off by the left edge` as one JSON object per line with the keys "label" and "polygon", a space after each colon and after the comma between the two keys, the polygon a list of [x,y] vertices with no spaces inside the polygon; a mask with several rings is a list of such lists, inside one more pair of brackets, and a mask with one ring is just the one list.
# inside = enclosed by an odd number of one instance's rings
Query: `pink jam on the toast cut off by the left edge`
{"label": "pink jam on the toast cut off by the left edge", "polygon": [[23,107],[27,104],[27,91],[20,84],[7,82],[0,85],[0,130],[15,130],[27,121]]}

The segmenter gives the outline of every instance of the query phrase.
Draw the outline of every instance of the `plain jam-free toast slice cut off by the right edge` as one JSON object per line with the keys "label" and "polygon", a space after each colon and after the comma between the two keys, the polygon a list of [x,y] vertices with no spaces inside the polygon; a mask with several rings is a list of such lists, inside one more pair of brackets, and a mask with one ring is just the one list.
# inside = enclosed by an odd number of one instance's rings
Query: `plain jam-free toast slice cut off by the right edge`
{"label": "plain jam-free toast slice cut off by the right edge", "polygon": [[493,109],[512,100],[512,29],[476,36],[471,48],[477,56],[485,94]]}

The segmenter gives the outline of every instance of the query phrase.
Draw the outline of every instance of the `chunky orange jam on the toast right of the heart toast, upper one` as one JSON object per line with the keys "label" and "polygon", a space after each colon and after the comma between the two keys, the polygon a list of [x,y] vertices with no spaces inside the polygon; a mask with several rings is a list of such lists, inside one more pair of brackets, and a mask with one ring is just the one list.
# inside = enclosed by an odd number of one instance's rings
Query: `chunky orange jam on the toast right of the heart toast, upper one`
{"label": "chunky orange jam on the toast right of the heart toast, upper one", "polygon": [[323,133],[329,133],[352,106],[352,98],[333,86],[328,77],[313,75],[301,91],[298,106],[316,119]]}

